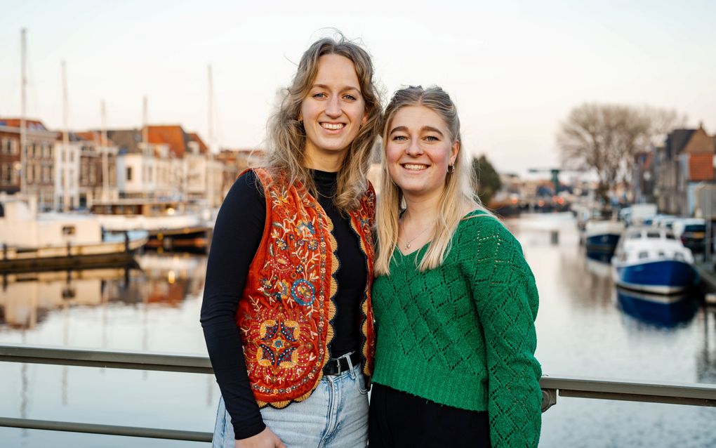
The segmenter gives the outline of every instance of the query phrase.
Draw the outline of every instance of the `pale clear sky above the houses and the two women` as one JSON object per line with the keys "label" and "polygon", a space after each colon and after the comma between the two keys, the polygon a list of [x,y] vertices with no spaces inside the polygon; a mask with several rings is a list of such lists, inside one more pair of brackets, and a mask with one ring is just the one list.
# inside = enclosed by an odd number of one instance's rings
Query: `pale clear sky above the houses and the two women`
{"label": "pale clear sky above the houses and the two women", "polygon": [[555,134],[584,102],[675,109],[716,131],[716,1],[8,1],[0,0],[0,116],[62,128],[180,124],[216,145],[263,144],[276,92],[328,31],[359,39],[386,92],[440,85],[458,105],[463,148],[498,171],[558,165]]}

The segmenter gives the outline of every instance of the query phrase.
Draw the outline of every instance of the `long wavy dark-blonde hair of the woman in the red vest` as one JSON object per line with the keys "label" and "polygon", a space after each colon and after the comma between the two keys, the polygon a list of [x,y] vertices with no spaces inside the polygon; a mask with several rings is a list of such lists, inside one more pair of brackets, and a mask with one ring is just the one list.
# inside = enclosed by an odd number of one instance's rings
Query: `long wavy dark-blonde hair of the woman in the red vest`
{"label": "long wavy dark-blonde hair of the woman in the red vest", "polygon": [[316,196],[311,170],[304,166],[306,131],[303,123],[299,122],[299,111],[316,79],[321,56],[339,54],[347,57],[355,67],[367,113],[367,120],[350,144],[338,172],[334,204],[339,210],[348,211],[357,208],[368,188],[367,173],[373,144],[379,132],[381,107],[379,93],[373,82],[370,55],[358,44],[337,34],[337,39],[326,37],[317,40],[301,57],[291,85],[283,91],[281,104],[269,120],[269,152],[263,163],[275,174],[283,173],[291,184],[301,181],[309,193]]}

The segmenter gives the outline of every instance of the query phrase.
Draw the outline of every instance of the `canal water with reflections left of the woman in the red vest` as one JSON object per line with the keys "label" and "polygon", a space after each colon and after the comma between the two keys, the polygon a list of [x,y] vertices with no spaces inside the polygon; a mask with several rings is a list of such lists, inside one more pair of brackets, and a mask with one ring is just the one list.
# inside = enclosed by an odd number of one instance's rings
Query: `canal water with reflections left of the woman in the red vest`
{"label": "canal water with reflections left of the woman in the red vest", "polygon": [[[205,355],[198,323],[205,264],[205,256],[152,253],[123,267],[5,275],[0,343]],[[218,396],[213,376],[192,373],[0,363],[0,378],[0,415],[28,419],[208,431]],[[3,447],[50,439],[72,447],[191,445],[0,428]]]}

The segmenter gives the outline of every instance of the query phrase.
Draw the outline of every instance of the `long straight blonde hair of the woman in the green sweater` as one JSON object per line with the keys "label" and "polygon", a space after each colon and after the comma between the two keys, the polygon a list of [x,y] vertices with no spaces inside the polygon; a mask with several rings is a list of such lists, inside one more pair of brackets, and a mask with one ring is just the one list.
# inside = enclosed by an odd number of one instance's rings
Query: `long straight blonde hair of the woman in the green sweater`
{"label": "long straight blonde hair of the woman in the green sweater", "polygon": [[[383,153],[385,153],[388,141],[390,122],[398,110],[408,106],[424,106],[435,111],[442,117],[450,130],[451,143],[460,142],[460,118],[458,118],[458,110],[455,108],[453,100],[450,99],[450,95],[437,86],[427,89],[410,86],[395,92],[390,104],[385,109],[382,122]],[[397,247],[400,215],[404,211],[402,209],[402,191],[390,178],[385,159],[383,157],[381,196],[376,212],[378,234],[378,250],[375,259],[376,275],[390,274],[390,261]],[[417,266],[420,272],[435,269],[445,261],[445,257],[450,252],[453,234],[458,228],[465,210],[481,209],[486,211],[480,203],[480,199],[473,192],[470,182],[471,175],[470,161],[468,161],[466,151],[461,147],[458,157],[455,158],[455,170],[445,175],[445,189],[442,190],[437,210],[439,218],[435,224],[430,247]]]}

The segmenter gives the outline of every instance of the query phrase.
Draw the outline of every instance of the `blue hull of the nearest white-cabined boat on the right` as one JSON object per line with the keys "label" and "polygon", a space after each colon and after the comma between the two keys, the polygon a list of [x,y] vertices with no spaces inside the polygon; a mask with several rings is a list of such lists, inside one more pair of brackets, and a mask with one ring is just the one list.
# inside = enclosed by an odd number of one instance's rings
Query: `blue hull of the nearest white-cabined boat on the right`
{"label": "blue hull of the nearest white-cabined boat on the right", "polygon": [[687,262],[662,259],[651,262],[615,264],[614,282],[630,290],[674,294],[695,284],[696,272]]}

